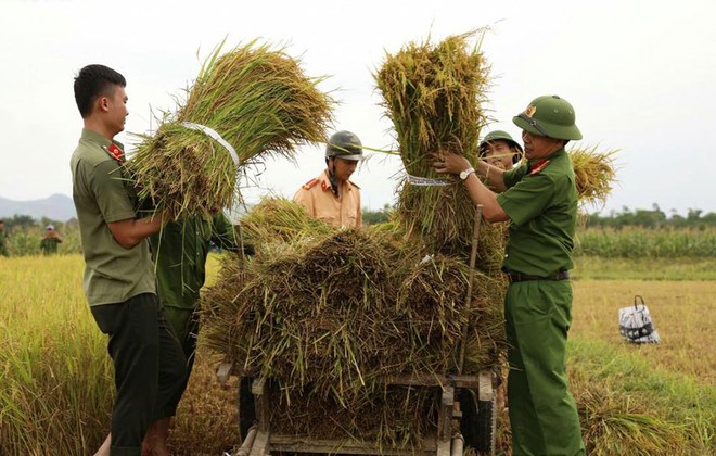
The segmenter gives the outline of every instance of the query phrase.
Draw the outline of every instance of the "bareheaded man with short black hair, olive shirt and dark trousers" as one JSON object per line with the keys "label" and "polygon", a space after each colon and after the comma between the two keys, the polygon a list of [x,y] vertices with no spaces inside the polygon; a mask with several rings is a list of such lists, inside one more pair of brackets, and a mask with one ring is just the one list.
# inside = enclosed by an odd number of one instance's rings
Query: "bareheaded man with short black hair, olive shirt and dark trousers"
{"label": "bareheaded man with short black hair, olive shirt and dark trousers", "polygon": [[[124,147],[114,140],[127,117],[126,80],[88,65],[74,91],[84,129],[71,160],[73,200],[85,256],[84,289],[100,330],[110,337],[117,395],[110,435],[98,455],[139,456],[148,429],[172,416],[186,358],[156,296],[146,240],[163,214],[138,218],[135,188],[123,175]],[[168,455],[167,448],[153,448]]]}

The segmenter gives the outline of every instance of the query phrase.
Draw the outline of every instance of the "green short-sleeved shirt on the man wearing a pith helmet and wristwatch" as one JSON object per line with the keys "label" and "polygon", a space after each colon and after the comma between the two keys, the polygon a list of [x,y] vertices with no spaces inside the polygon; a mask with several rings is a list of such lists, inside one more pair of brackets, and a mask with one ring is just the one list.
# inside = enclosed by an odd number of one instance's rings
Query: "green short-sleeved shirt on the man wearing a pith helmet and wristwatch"
{"label": "green short-sleeved shirt on the man wearing a pith helmet and wristwatch", "polygon": [[511,220],[502,266],[513,273],[547,277],[574,266],[577,191],[572,159],[561,149],[547,160],[506,172],[508,190],[497,195]]}

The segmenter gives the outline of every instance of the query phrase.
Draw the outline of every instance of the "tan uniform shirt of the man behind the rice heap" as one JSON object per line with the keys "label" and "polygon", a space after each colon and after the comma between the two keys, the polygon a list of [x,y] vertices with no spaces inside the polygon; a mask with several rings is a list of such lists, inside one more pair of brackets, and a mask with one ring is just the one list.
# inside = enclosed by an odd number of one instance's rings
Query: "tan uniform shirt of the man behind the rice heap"
{"label": "tan uniform shirt of the man behind the rice heap", "polygon": [[351,181],[341,185],[341,197],[331,189],[328,172],[324,169],[316,179],[309,180],[293,195],[293,201],[304,206],[308,215],[320,218],[334,227],[360,228],[360,188]]}

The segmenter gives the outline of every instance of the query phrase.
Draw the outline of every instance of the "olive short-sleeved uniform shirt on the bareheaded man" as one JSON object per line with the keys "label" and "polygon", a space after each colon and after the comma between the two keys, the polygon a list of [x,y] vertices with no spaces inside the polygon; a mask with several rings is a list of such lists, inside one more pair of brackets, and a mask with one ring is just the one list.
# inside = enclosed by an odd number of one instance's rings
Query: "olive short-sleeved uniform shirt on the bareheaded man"
{"label": "olive short-sleeved uniform shirt on the bareheaded man", "polygon": [[110,155],[118,142],[82,129],[72,155],[73,200],[85,254],[85,294],[90,305],[120,303],[141,293],[156,293],[149,242],[125,249],[108,224],[136,218],[137,195]]}

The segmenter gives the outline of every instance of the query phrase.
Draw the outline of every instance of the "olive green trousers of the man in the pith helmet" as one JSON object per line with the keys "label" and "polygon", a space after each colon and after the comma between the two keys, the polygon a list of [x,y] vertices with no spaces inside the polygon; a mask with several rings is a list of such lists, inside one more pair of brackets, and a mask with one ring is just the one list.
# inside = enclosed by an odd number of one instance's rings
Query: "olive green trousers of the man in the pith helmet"
{"label": "olive green trousers of the man in the pith helmet", "polygon": [[512,454],[584,455],[579,417],[565,370],[572,283],[510,283],[504,319]]}

